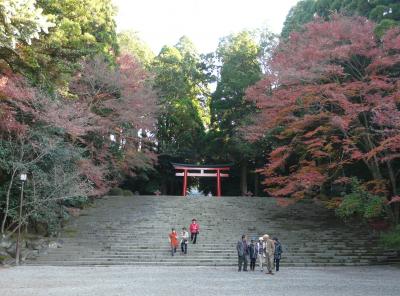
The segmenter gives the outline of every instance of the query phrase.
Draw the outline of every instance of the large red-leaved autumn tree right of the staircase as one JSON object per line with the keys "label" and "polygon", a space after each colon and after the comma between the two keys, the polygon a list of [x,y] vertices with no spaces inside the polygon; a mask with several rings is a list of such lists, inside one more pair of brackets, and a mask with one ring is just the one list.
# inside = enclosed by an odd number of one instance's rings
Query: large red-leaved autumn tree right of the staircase
{"label": "large red-leaved autumn tree right of the staircase", "polygon": [[374,26],[315,20],[279,45],[271,74],[247,90],[259,110],[248,138],[274,138],[261,170],[270,195],[338,195],[333,188],[353,176],[389,200],[398,195],[400,29],[378,40]]}

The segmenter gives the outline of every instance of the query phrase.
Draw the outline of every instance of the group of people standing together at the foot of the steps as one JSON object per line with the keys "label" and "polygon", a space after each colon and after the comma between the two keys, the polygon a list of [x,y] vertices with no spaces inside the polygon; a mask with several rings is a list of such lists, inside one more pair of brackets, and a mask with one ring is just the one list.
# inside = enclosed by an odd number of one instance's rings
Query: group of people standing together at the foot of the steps
{"label": "group of people standing together at the foot of the steps", "polygon": [[238,271],[247,271],[248,261],[250,259],[250,270],[254,271],[256,261],[260,266],[260,270],[264,271],[264,266],[267,267],[268,274],[274,274],[274,267],[279,271],[279,262],[282,256],[282,245],[278,238],[270,238],[268,234],[264,234],[255,243],[252,239],[250,244],[247,243],[246,235],[242,235],[242,239],[237,242],[236,250],[238,253]]}

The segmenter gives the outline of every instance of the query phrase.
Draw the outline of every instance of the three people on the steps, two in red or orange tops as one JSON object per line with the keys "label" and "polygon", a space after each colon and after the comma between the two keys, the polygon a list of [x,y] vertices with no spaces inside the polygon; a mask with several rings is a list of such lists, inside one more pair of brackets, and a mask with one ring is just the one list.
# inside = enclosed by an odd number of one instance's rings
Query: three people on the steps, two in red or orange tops
{"label": "three people on the steps, two in red or orange tops", "polygon": [[[200,233],[200,225],[197,223],[196,219],[192,219],[192,223],[189,226],[190,231],[190,241],[193,244],[196,244],[197,236]],[[186,227],[182,228],[180,235],[176,232],[175,228],[172,228],[171,233],[168,235],[169,243],[171,246],[171,255],[174,256],[176,250],[181,245],[181,255],[187,254],[187,246],[189,243],[189,232],[187,231]],[[179,242],[180,241],[180,242]]]}

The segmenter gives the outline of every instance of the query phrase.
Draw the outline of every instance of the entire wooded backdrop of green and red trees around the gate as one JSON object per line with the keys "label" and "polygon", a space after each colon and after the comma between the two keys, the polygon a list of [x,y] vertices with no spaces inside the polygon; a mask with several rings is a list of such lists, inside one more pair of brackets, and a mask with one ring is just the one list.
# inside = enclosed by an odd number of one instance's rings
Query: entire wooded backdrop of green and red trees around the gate
{"label": "entire wooded backdrop of green and red trees around the gate", "polygon": [[397,2],[299,1],[281,36],[243,30],[203,54],[117,33],[111,0],[0,1],[1,233],[54,232],[107,193],[180,194],[171,162],[231,163],[225,195],[397,225]]}

